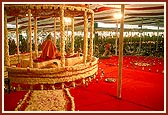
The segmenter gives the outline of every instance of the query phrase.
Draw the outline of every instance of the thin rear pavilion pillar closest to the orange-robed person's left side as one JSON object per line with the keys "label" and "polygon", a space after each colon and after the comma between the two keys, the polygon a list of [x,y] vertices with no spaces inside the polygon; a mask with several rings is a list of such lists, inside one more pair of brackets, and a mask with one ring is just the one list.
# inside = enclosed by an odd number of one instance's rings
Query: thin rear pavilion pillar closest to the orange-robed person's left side
{"label": "thin rear pavilion pillar closest to the orange-robed person's left side", "polygon": [[34,17],[34,45],[35,45],[35,58],[38,58],[38,43],[37,43],[37,17]]}

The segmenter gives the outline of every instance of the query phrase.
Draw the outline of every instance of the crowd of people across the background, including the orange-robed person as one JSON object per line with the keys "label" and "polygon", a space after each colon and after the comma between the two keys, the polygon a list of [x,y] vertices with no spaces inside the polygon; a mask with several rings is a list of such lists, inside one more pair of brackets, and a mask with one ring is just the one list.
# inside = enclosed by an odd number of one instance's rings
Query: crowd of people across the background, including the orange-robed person
{"label": "crowd of people across the background, including the orange-robed person", "polygon": [[[164,38],[160,36],[159,39],[157,37],[143,37],[140,41],[140,37],[132,37],[124,38],[124,46],[123,46],[123,55],[141,55],[141,56],[156,56],[163,57],[164,56]],[[29,52],[27,40],[25,38],[20,38],[19,51]],[[42,51],[41,58],[44,59],[52,59],[56,57],[60,57],[59,49],[59,39],[57,40],[57,44],[53,44],[53,37],[51,34],[47,35],[44,41],[39,45],[39,51]],[[93,41],[93,49],[94,56],[96,57],[105,57],[108,55],[116,54],[116,39],[115,38],[94,38]],[[119,40],[118,40],[119,42]],[[33,50],[34,50],[34,42],[32,42]],[[89,43],[89,41],[88,41]],[[117,43],[118,44],[118,43]],[[68,54],[70,51],[71,43],[67,42],[65,44],[65,51]],[[17,53],[17,46],[14,39],[9,39],[9,54],[13,55]],[[118,54],[119,46],[117,47]],[[74,51],[82,53],[83,50],[83,38],[81,36],[75,36],[74,43]]]}

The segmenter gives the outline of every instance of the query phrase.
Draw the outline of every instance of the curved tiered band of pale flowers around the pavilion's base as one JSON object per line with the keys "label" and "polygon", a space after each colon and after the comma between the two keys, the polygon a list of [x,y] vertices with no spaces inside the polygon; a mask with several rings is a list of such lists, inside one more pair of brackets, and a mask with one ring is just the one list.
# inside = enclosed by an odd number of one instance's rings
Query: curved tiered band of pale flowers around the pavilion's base
{"label": "curved tiered band of pale flowers around the pavilion's base", "polygon": [[92,62],[88,62],[85,65],[79,64],[72,67],[67,66],[66,68],[38,69],[9,67],[7,69],[11,82],[24,84],[55,84],[75,81],[94,75],[98,70],[97,61],[97,58],[92,58]]}

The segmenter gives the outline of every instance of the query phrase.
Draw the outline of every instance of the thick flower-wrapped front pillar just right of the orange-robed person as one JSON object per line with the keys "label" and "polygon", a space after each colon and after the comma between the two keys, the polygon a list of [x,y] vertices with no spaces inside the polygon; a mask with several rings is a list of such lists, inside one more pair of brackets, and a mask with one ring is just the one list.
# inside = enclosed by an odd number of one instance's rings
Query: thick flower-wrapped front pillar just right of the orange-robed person
{"label": "thick flower-wrapped front pillar just right of the orange-robed person", "polygon": [[64,7],[60,7],[60,36],[61,36],[61,66],[65,66],[65,35],[64,35]]}

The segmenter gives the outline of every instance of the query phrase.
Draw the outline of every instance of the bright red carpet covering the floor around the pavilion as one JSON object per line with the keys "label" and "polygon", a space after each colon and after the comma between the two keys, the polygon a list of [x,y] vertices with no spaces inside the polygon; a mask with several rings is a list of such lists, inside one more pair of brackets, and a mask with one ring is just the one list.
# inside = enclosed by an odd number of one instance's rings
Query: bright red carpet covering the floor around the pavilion
{"label": "bright red carpet covering the floor around the pavilion", "polygon": [[[125,56],[122,71],[122,98],[117,99],[117,81],[105,78],[118,76],[118,57],[99,59],[99,71],[89,85],[70,88],[76,111],[163,111],[164,60],[152,57]],[[149,66],[136,66],[135,63]],[[101,79],[102,70],[104,77]],[[5,110],[12,111],[26,92],[5,94]]]}

